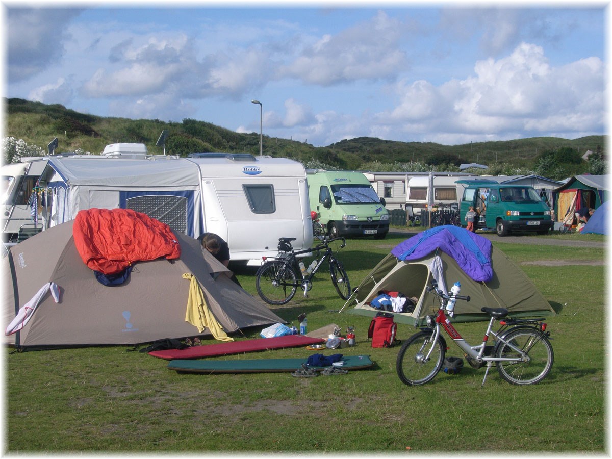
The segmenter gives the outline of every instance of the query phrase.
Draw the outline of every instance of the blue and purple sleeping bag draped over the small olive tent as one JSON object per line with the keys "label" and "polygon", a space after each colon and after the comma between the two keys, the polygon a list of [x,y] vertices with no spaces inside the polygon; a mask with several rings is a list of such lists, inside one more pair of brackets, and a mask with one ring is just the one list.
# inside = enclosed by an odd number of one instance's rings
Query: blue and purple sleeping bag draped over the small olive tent
{"label": "blue and purple sleeping bag draped over the small olive tent", "polygon": [[493,278],[491,241],[458,226],[436,226],[396,245],[391,253],[401,260],[423,258],[442,250],[457,261],[463,272],[477,282]]}

